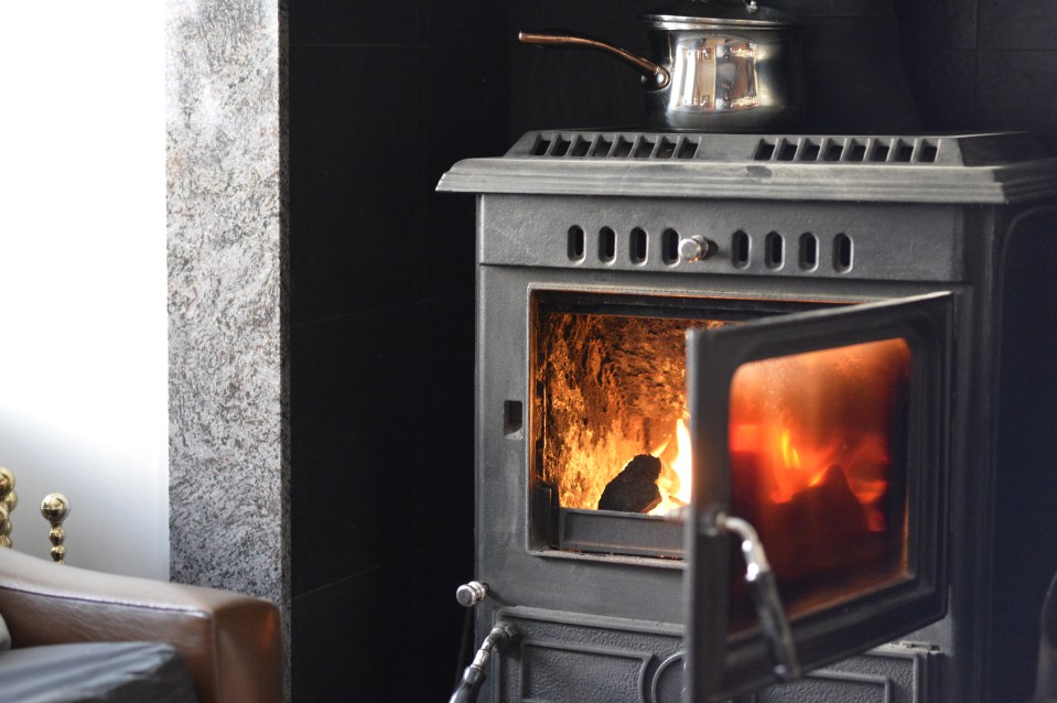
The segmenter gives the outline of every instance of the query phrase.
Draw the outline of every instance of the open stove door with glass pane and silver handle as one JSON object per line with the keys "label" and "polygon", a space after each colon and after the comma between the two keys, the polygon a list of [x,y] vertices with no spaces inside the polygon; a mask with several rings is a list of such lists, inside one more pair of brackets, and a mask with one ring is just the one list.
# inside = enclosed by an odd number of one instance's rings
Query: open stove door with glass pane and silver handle
{"label": "open stove door with glass pane and silver handle", "polygon": [[[785,631],[802,672],[942,617],[952,301],[688,333],[687,703],[788,674],[780,638],[763,631]],[[785,630],[759,626],[767,599],[730,529],[746,522]]]}

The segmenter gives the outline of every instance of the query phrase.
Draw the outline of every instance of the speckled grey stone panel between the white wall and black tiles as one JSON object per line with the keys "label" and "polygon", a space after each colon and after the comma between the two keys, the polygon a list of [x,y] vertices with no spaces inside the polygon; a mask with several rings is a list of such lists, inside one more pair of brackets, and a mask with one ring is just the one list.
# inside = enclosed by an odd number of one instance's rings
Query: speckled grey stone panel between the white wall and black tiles
{"label": "speckled grey stone panel between the white wall and black tiles", "polygon": [[166,14],[171,571],[288,610],[283,14]]}

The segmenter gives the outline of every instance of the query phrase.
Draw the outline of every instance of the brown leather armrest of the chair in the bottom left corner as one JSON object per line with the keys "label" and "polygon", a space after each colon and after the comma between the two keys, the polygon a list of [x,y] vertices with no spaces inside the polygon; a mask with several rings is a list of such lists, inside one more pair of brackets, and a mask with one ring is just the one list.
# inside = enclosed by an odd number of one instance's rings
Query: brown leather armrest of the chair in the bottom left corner
{"label": "brown leather armrest of the chair in the bottom left corner", "polygon": [[282,701],[279,609],[267,601],[0,549],[0,615],[13,648],[168,642],[183,656],[202,703]]}

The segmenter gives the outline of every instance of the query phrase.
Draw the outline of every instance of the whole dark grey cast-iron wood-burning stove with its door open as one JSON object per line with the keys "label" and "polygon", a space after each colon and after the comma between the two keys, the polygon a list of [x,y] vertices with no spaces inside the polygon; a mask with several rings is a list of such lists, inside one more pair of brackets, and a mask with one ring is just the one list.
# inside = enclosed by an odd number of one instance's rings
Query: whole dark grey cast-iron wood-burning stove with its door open
{"label": "whole dark grey cast-iron wood-burning stove with its door open", "polygon": [[483,700],[1031,692],[1057,161],[1028,136],[532,132],[439,188],[477,196]]}

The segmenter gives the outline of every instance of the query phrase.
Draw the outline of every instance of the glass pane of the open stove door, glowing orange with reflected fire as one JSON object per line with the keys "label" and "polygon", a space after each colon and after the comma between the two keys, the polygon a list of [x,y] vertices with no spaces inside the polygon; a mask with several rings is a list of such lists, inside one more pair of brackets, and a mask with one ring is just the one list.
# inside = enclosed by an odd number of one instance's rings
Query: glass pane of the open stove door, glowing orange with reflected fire
{"label": "glass pane of the open stove door, glowing orange with reflected fire", "polygon": [[785,592],[858,591],[905,571],[909,370],[906,342],[885,339],[735,372],[732,508],[756,527]]}

